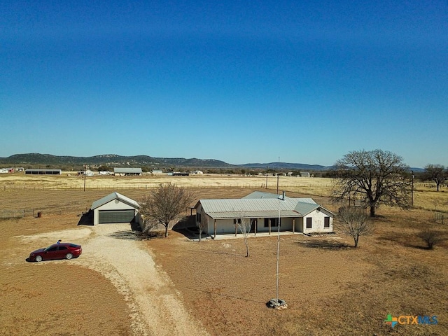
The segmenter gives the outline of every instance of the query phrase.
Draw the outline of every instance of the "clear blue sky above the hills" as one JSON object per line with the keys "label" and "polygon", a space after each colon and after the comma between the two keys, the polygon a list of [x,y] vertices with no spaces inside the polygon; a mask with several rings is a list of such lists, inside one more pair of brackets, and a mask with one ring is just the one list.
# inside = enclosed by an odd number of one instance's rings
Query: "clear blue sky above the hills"
{"label": "clear blue sky above the hills", "polygon": [[0,157],[448,165],[448,4],[0,0]]}

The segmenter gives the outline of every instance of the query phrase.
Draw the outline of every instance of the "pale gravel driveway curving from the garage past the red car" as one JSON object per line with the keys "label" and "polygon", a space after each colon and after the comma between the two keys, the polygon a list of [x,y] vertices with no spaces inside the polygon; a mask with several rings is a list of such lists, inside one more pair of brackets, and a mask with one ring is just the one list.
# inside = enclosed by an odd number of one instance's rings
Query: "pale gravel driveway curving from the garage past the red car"
{"label": "pale gravel driveway curving from the garage past the red car", "polygon": [[71,260],[103,274],[124,296],[133,335],[208,335],[182,304],[181,293],[155,265],[144,242],[126,224],[97,225],[18,237],[22,241],[82,243],[83,255]]}

